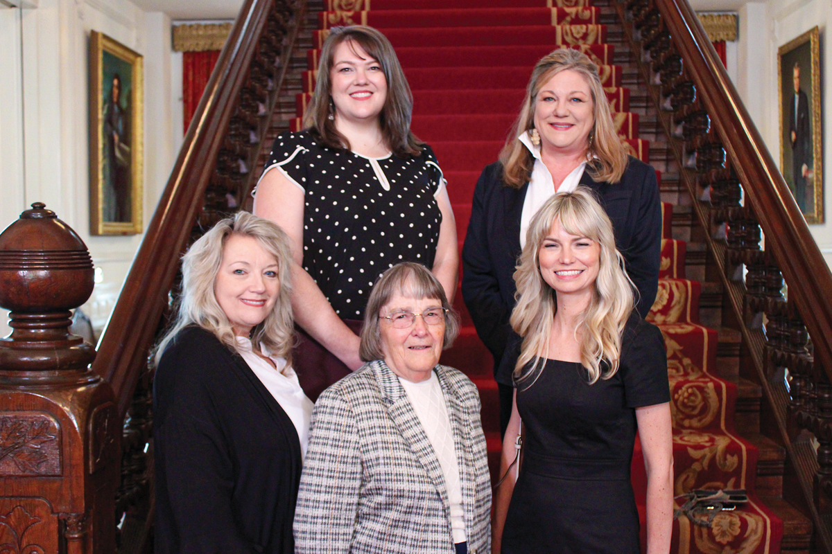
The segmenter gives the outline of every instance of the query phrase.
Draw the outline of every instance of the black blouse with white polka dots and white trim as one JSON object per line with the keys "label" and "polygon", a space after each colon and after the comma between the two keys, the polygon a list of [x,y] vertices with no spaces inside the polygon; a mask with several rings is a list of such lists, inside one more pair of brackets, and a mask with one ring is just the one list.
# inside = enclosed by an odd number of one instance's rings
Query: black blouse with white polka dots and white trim
{"label": "black blouse with white polka dots and white trim", "polygon": [[374,282],[396,263],[433,267],[443,176],[427,145],[418,157],[367,158],[284,133],[263,174],[272,169],[304,191],[304,268],[342,318],[364,317]]}

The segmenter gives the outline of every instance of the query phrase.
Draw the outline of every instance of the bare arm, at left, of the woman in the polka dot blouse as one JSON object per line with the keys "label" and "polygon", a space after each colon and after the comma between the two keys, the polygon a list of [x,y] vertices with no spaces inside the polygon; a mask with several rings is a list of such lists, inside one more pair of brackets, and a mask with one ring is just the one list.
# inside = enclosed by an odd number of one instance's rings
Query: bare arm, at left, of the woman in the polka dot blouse
{"label": "bare arm, at left, of the woman in the polka dot blouse", "polygon": [[274,221],[289,235],[292,247],[292,310],[295,322],[343,361],[351,370],[363,362],[359,358],[359,337],[341,321],[320,288],[303,268],[304,190],[286,179],[280,169],[267,172],[255,194],[255,215]]}

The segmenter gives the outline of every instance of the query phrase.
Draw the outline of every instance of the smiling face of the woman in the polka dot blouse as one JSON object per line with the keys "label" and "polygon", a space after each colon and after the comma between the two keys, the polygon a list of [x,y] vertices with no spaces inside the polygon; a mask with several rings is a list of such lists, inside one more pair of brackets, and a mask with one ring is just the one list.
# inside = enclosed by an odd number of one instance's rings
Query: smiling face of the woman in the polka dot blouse
{"label": "smiling face of the woman in the polka dot blouse", "polygon": [[345,40],[335,47],[332,70],[335,120],[378,120],[387,100],[387,78],[381,64],[358,43]]}

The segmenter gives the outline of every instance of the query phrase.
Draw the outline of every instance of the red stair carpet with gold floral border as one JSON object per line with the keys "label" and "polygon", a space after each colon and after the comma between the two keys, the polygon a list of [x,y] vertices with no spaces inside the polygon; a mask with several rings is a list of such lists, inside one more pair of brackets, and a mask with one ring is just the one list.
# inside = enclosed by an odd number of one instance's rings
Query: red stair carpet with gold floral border
{"label": "red stair carpet with gold floral border", "polygon": [[[414,91],[412,128],[436,153],[448,179],[448,194],[463,243],[473,189],[480,171],[497,159],[524,96],[532,66],[557,47],[577,48],[601,68],[607,101],[617,130],[632,155],[649,163],[650,145],[639,138],[639,114],[630,110],[630,91],[623,86],[615,49],[606,43],[602,21],[612,7],[592,7],[589,0],[364,0],[364,10],[342,12],[329,0],[314,32],[316,50],[308,53],[304,93],[297,97],[297,119],[314,89],[319,48],[336,25],[365,24],[379,28],[395,47]],[[661,179],[661,175],[660,175]],[[672,552],[780,552],[782,522],[755,498],[757,449],[734,433],[736,386],[712,373],[716,364],[716,331],[699,324],[700,284],[686,280],[686,243],[671,238],[672,207],[663,206],[661,282],[651,320],[665,337],[668,383],[674,425],[676,494],[693,488],[746,488],[751,502],[735,512],[717,515],[712,527],[674,523]],[[478,386],[483,400],[483,428],[489,461],[496,473],[501,444],[497,385],[491,355],[478,340],[458,293],[463,330],[443,363],[463,370]],[[646,477],[636,444],[632,481],[642,514],[642,547]]]}

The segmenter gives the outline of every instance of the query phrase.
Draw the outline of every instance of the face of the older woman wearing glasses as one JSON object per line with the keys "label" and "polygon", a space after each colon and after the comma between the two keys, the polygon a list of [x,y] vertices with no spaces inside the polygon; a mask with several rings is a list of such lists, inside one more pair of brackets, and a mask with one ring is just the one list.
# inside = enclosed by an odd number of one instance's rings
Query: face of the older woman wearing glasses
{"label": "face of the older woman wearing glasses", "polygon": [[384,362],[390,370],[403,379],[418,383],[430,377],[430,372],[439,363],[445,335],[445,322],[427,325],[421,316],[416,316],[413,326],[397,329],[385,316],[397,311],[425,313],[434,308],[442,311],[438,298],[414,300],[396,292],[379,313],[379,336]]}

